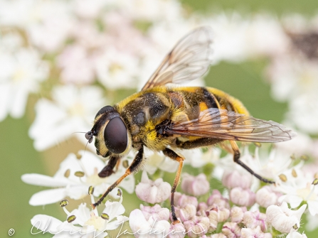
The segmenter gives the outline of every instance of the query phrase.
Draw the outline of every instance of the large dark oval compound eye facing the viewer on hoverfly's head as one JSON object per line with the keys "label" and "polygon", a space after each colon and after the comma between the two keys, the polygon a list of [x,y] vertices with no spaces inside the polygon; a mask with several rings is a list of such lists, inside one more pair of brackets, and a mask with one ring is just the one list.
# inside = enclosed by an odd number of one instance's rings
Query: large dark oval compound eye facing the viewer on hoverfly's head
{"label": "large dark oval compound eye facing the viewer on hoverfly's head", "polygon": [[106,147],[112,153],[122,153],[127,148],[127,129],[120,117],[114,117],[108,122],[104,139]]}

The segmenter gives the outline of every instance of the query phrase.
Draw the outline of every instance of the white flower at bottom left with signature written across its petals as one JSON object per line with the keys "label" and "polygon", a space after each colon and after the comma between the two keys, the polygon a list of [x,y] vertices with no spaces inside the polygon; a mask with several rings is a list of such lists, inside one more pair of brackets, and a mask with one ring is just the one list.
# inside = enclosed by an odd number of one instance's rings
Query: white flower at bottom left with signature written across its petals
{"label": "white flower at bottom left with signature written across its petals", "polygon": [[[95,201],[92,200],[94,203]],[[43,232],[55,234],[53,237],[84,237],[102,238],[107,236],[107,231],[117,229],[128,217],[123,216],[125,209],[122,205],[122,197],[119,202],[107,201],[105,209],[101,215],[98,215],[97,209],[90,210],[85,203],[81,203],[78,209],[68,212],[63,207],[64,212],[68,216],[65,222],[48,215],[35,215],[31,219],[33,228],[32,234],[37,234],[36,229]]]}

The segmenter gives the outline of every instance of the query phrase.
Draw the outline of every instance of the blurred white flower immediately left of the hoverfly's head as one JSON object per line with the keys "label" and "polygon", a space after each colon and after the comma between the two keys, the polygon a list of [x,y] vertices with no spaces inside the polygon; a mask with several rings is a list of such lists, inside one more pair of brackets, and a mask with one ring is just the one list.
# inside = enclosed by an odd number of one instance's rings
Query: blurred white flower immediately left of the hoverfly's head
{"label": "blurred white flower immediately left of the hoverfly's head", "polygon": [[[105,106],[102,90],[94,86],[55,87],[52,97],[53,101],[38,100],[36,119],[29,130],[30,137],[34,139],[34,147],[39,151],[65,141],[74,132],[88,131],[95,114]],[[83,134],[75,135],[83,144],[87,144]]]}

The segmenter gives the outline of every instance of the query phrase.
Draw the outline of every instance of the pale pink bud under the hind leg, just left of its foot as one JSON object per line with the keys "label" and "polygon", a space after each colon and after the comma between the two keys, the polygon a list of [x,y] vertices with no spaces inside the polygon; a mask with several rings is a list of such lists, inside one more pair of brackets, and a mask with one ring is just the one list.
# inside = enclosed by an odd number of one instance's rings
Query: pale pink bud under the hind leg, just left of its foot
{"label": "pale pink bud under the hind leg, just left of its foot", "polygon": [[238,171],[226,171],[222,177],[222,183],[226,188],[240,187],[243,189],[250,188],[253,175],[250,173],[239,173]]}

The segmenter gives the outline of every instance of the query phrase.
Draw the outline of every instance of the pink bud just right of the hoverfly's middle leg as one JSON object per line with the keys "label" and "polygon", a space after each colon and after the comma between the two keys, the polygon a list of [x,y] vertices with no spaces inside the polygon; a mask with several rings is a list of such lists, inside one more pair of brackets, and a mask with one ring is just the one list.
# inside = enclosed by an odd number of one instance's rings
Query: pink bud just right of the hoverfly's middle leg
{"label": "pink bud just right of the hoverfly's middle leg", "polygon": [[181,182],[181,188],[189,195],[200,196],[208,193],[210,183],[206,180],[206,175],[203,173],[198,176],[184,174]]}

